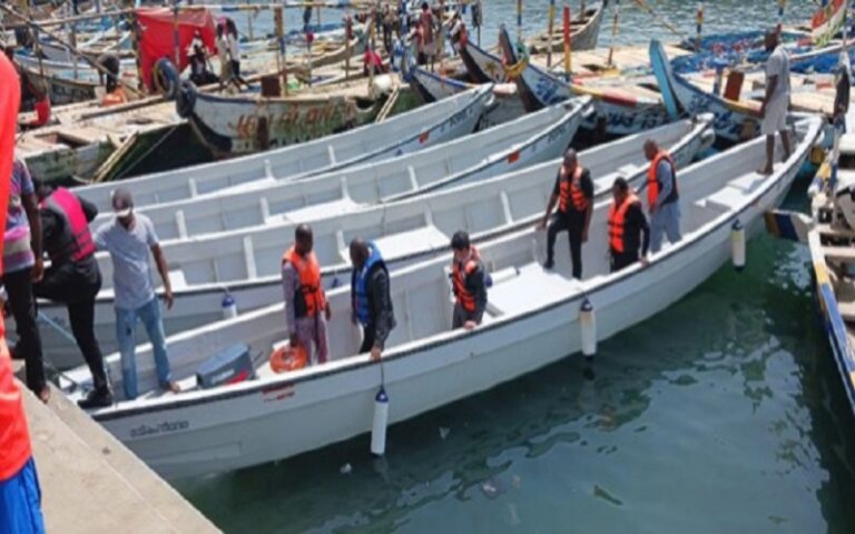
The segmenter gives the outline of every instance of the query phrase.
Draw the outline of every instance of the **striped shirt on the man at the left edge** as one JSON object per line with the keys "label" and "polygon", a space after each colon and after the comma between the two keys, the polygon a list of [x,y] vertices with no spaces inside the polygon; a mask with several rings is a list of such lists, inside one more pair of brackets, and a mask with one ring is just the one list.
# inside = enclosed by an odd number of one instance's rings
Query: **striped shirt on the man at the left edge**
{"label": "striped shirt on the man at the left edge", "polygon": [[32,178],[20,159],[12,164],[12,182],[9,187],[9,206],[3,234],[3,271],[16,273],[36,264],[30,246],[30,222],[23,207],[23,198],[35,192]]}

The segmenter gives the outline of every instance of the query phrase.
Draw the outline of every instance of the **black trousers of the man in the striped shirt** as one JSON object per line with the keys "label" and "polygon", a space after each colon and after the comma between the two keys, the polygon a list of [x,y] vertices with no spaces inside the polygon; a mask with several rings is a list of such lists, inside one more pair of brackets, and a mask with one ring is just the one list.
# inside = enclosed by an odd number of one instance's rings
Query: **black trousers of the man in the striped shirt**
{"label": "black trousers of the man in the striped shirt", "polygon": [[47,385],[45,359],[41,353],[41,336],[36,323],[36,297],[32,295],[31,270],[21,269],[3,275],[3,286],[9,295],[9,307],[14,317],[18,344],[14,354],[27,363],[27,387],[37,395]]}

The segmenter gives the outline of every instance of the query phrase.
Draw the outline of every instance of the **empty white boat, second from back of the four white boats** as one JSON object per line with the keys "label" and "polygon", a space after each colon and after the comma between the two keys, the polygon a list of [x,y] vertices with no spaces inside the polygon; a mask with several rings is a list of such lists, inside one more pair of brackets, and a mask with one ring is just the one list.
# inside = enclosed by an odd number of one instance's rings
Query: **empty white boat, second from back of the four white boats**
{"label": "empty white boat, second from back of the four white boats", "polygon": [[[484,179],[553,160],[570,145],[590,99],[578,99],[513,122],[376,164],[304,180],[274,181],[228,195],[142,207],[160,239],[188,239],[281,221],[344,214],[439,187]],[[90,225],[112,218],[104,212]]]}

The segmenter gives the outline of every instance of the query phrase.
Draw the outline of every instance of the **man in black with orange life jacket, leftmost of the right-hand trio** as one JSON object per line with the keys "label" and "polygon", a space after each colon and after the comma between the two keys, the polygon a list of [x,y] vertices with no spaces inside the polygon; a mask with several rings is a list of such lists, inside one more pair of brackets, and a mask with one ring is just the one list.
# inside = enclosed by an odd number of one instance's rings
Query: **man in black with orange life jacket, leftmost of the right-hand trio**
{"label": "man in black with orange life jacket, leftmost of the right-hand trio", "polygon": [[570,259],[573,264],[573,278],[582,278],[582,244],[588,241],[588,228],[591,226],[593,211],[593,181],[588,169],[578,164],[576,150],[568,148],[564,161],[558,169],[556,187],[547,204],[547,212],[538,224],[538,229],[547,227],[549,216],[558,205],[558,212],[549,224],[547,233],[547,261],[543,267],[554,266],[556,237],[567,230],[570,238]]}

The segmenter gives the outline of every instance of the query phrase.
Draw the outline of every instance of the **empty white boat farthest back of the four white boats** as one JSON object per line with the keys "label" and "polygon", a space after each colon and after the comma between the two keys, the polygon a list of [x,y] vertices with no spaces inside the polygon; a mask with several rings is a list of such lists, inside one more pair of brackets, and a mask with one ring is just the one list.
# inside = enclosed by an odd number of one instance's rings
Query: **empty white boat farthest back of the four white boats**
{"label": "empty white boat farthest back of the four white boats", "polygon": [[[470,134],[478,125],[492,88],[484,86],[455,98],[394,116],[389,120],[264,154],[188,167],[121,181],[135,207],[223,194],[239,187],[268,187],[345,167],[380,161]],[[115,184],[79,188],[101,211],[110,210]]]}

